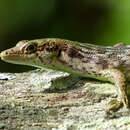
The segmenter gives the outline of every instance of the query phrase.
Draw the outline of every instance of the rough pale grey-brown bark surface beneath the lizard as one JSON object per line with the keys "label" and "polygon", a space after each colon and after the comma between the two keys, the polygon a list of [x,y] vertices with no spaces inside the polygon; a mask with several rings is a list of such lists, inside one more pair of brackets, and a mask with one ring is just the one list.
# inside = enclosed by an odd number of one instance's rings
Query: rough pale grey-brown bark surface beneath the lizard
{"label": "rough pale grey-brown bark surface beneath the lizard", "polygon": [[107,112],[116,89],[105,82],[51,70],[0,73],[0,97],[0,129],[130,129],[129,110]]}

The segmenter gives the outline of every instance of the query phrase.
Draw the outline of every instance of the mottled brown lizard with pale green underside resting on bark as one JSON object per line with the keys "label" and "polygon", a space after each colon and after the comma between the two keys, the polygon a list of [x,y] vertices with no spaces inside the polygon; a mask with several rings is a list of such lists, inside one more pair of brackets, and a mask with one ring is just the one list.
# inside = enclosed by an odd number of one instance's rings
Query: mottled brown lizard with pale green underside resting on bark
{"label": "mottled brown lizard with pale green underside resting on bark", "polygon": [[2,51],[0,57],[9,63],[112,82],[118,93],[115,106],[122,104],[119,107],[129,107],[127,81],[130,79],[130,45],[97,46],[59,38],[22,40],[15,47]]}

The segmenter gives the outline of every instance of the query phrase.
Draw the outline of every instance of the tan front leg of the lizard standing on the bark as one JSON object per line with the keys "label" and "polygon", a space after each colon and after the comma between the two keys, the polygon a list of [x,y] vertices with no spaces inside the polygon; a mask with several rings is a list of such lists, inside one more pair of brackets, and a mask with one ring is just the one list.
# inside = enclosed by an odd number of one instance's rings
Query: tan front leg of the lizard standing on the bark
{"label": "tan front leg of the lizard standing on the bark", "polygon": [[[117,93],[118,93],[117,103],[120,103],[120,104],[123,103],[123,105],[128,108],[127,81],[126,81],[125,75],[118,69],[105,69],[105,70],[102,70],[100,73],[102,76],[108,78],[111,82],[115,84],[117,88]],[[118,104],[118,106],[120,105]],[[112,110],[114,109],[114,107],[110,109]]]}

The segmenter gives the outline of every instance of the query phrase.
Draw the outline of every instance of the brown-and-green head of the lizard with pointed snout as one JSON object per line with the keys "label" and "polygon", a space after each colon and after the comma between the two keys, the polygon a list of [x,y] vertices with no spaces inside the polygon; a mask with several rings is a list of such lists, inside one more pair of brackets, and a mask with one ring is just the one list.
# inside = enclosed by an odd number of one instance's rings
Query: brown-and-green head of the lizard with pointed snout
{"label": "brown-and-green head of the lizard with pointed snout", "polygon": [[[53,67],[60,55],[63,40],[46,38],[38,40],[23,40],[15,47],[2,51],[2,60],[14,64],[24,64],[36,67]],[[62,44],[61,44],[62,43]]]}

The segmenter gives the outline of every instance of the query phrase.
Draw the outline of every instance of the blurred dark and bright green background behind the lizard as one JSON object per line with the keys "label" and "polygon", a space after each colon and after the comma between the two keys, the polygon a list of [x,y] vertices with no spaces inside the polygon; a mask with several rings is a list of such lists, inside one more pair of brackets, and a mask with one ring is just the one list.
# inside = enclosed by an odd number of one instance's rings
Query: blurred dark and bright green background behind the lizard
{"label": "blurred dark and bright green background behind the lizard", "polygon": [[[100,45],[130,43],[129,0],[1,0],[0,51],[20,40],[58,37]],[[0,61],[1,72],[30,67]]]}

